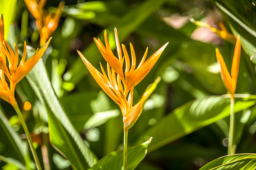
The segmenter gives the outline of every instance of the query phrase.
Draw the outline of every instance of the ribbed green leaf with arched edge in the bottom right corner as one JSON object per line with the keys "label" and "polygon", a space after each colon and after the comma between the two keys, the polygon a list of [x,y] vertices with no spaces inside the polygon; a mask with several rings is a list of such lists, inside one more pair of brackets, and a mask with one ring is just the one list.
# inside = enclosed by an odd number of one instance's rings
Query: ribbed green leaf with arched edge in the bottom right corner
{"label": "ribbed green leaf with arched edge in the bottom right corner", "polygon": [[220,157],[207,163],[200,170],[255,170],[256,154],[235,154]]}

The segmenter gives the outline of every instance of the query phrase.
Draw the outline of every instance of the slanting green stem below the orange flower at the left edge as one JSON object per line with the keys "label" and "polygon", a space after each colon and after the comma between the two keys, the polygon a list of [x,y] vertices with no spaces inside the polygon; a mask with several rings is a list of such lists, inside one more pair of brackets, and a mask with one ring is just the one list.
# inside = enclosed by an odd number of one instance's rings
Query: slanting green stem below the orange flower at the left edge
{"label": "slanting green stem below the orange flower at the left edge", "polygon": [[22,116],[22,114],[21,114],[21,112],[20,112],[20,109],[19,109],[19,107],[18,107],[18,104],[17,104],[16,101],[14,101],[12,105],[13,105],[13,108],[15,109],[15,111],[17,112],[18,117],[19,117],[20,122],[21,122],[21,125],[23,126],[23,129],[24,129],[24,131],[25,131],[25,133],[26,133],[29,146],[30,146],[30,148],[31,148],[31,151],[32,151],[34,160],[35,160],[35,162],[36,162],[36,168],[37,168],[38,170],[42,170],[41,165],[40,165],[40,161],[39,161],[38,156],[37,156],[37,153],[36,153],[36,150],[35,150],[35,148],[33,147],[33,143],[32,143],[32,140],[31,140],[31,136],[30,136],[29,131],[28,131],[28,127],[27,127],[27,125],[26,125],[25,120],[23,119],[23,116]]}

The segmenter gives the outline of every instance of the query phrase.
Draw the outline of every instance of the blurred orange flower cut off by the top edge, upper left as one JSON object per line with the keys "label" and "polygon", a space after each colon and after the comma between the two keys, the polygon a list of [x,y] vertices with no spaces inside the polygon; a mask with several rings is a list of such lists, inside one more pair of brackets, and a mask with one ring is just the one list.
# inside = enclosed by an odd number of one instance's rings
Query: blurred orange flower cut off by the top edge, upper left
{"label": "blurred orange flower cut off by the top edge, upper left", "polygon": [[55,15],[52,13],[47,13],[44,10],[44,5],[46,0],[24,0],[28,10],[36,19],[36,27],[40,34],[40,45],[44,45],[46,40],[51,36],[51,34],[56,30],[59,19],[61,17],[62,8],[64,2],[59,3],[58,10]]}

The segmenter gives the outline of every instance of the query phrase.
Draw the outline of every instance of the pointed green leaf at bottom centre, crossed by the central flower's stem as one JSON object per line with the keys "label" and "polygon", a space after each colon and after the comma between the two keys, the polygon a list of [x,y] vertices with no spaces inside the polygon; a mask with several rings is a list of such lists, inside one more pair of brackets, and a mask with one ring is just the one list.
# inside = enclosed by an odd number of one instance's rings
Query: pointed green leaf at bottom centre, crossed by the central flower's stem
{"label": "pointed green leaf at bottom centre, crossed by the central flower's stem", "polygon": [[[136,166],[145,158],[150,138],[141,145],[128,148],[127,151],[127,170],[134,170]],[[123,150],[112,152],[99,160],[99,162],[88,170],[122,170]]]}

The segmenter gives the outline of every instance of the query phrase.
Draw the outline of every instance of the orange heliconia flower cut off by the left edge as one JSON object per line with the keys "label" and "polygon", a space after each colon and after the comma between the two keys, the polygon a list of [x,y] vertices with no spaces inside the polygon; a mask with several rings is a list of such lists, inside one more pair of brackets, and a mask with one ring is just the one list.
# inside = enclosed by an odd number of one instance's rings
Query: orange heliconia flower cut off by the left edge
{"label": "orange heliconia flower cut off by the left edge", "polygon": [[[38,60],[43,56],[46,48],[51,41],[49,40],[36,52],[26,60],[26,41],[24,42],[23,56],[18,63],[18,47],[14,43],[14,51],[4,39],[4,20],[1,15],[0,21],[0,98],[13,104],[15,102],[14,91],[16,84],[28,74],[28,72],[36,65]],[[7,61],[8,60],[8,66]],[[7,83],[6,77],[9,80]]]}

